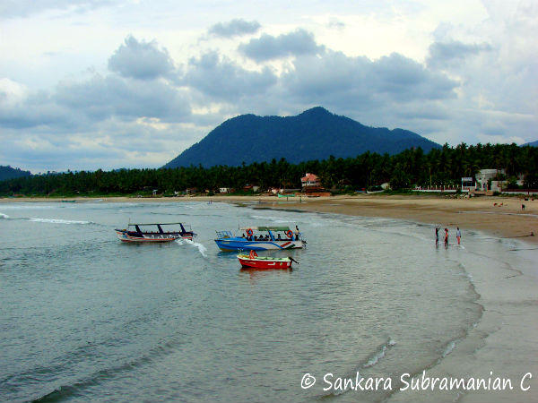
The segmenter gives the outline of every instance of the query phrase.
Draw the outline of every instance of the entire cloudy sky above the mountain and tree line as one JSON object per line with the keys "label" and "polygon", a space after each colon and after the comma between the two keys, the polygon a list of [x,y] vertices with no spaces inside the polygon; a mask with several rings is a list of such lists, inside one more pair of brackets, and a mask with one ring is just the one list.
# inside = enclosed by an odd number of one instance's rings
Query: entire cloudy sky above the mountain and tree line
{"label": "entire cloudy sky above the mountain and tree line", "polygon": [[0,165],[161,167],[325,107],[456,146],[538,140],[535,0],[0,0]]}

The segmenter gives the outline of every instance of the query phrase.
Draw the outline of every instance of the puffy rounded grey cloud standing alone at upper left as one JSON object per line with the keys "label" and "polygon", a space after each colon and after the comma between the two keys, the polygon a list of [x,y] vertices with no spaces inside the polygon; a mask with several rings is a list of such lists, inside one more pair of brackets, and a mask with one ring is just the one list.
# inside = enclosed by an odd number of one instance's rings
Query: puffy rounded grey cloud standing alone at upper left
{"label": "puffy rounded grey cloud standing alone at upper left", "polygon": [[108,69],[124,77],[155,80],[171,73],[174,64],[168,51],[159,49],[155,41],[139,42],[129,36],[108,59]]}

